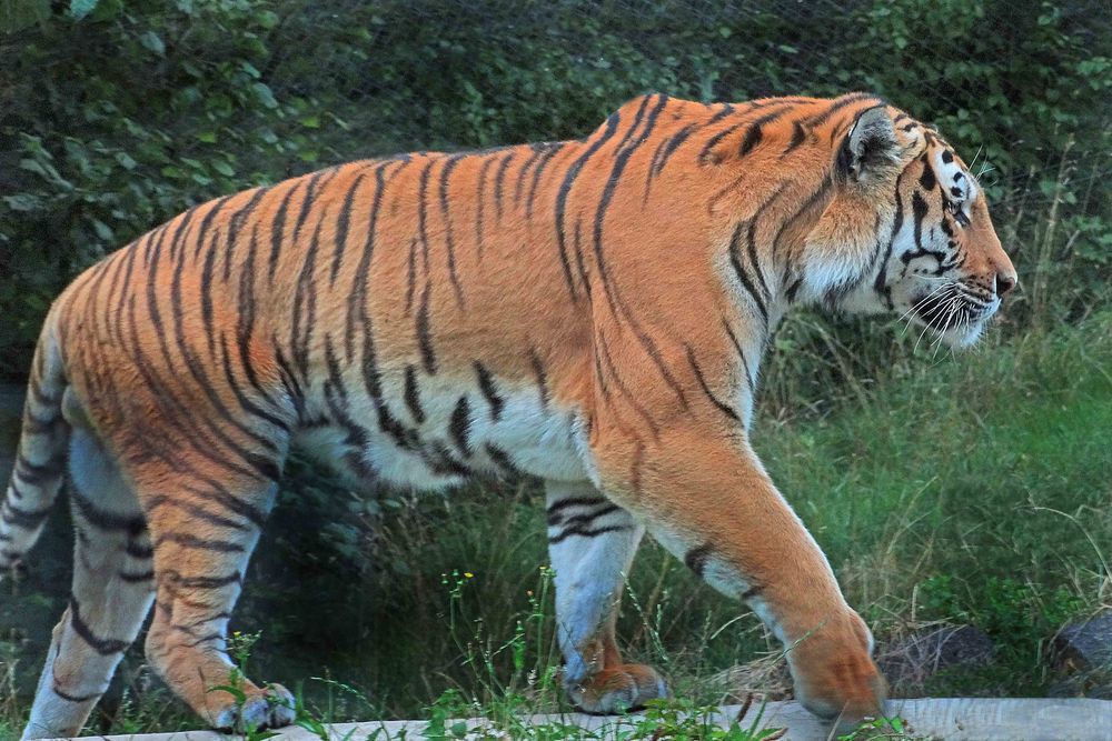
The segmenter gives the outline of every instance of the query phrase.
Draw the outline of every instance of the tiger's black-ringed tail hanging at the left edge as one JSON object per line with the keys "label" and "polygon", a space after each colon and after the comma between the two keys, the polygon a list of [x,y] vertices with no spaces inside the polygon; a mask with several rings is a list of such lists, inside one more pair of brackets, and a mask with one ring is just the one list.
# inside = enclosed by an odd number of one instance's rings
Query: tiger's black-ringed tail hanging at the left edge
{"label": "tiger's black-ringed tail hanging at the left edge", "polygon": [[61,412],[66,378],[52,327],[48,318],[34,351],[16,465],[0,505],[0,569],[34,545],[66,477],[70,427]]}

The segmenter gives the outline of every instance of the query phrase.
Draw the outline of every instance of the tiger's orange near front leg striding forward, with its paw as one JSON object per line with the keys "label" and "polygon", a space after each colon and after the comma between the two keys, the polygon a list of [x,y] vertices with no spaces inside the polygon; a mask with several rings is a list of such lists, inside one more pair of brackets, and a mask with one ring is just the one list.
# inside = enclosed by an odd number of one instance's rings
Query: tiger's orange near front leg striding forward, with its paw
{"label": "tiger's orange near front leg striding forward, with its paw", "polygon": [[744,437],[676,425],[593,444],[602,485],[722,593],[747,602],[787,650],[796,699],[856,723],[883,710],[873,639],[826,558],[776,491]]}

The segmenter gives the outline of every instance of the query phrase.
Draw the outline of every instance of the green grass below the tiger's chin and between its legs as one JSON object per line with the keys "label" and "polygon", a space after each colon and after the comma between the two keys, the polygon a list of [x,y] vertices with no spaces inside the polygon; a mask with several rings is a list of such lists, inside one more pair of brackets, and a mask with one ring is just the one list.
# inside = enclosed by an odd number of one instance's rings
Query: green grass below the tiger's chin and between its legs
{"label": "green grass below the tiger's chin and between its legs", "polygon": [[[865,331],[874,357],[862,359],[841,330],[790,320],[755,445],[882,643],[939,621],[973,623],[995,641],[990,665],[909,691],[1042,694],[1055,680],[1046,641],[1106,603],[1112,587],[1112,554],[1101,551],[1112,542],[1112,314],[1007,341],[997,333],[957,358],[915,351],[914,337],[877,350],[884,332]],[[802,349],[815,347],[826,350]],[[814,382],[823,373],[841,381]],[[248,674],[300,682],[307,718],[435,720],[448,708],[512,723],[566,709],[540,493],[393,497],[366,501],[294,467],[235,619],[235,629],[261,631]],[[62,609],[58,564],[69,547],[60,517],[51,528],[42,562],[0,608],[4,635],[23,631],[2,644],[14,689],[0,702],[0,737],[26,715],[47,625]],[[726,670],[771,665],[780,651],[751,614],[652,542],[624,605],[626,653],[662,668],[687,703],[657,709],[657,727],[688,722],[665,718],[684,708],[689,719],[737,701],[738,678],[759,674]],[[196,725],[141,661],[128,655],[91,730]]]}

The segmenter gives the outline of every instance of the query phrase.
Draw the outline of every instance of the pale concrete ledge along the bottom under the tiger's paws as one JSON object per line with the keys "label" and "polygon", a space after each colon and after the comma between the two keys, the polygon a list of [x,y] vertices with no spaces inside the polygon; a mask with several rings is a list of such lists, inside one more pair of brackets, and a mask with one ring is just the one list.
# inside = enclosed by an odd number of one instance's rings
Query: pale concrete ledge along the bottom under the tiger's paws
{"label": "pale concrete ledge along the bottom under the tiger's paws", "polygon": [[[757,708],[749,709],[742,721],[743,728],[753,723]],[[892,710],[907,723],[914,739],[944,739],[945,741],[1112,741],[1112,701],[1086,699],[923,699],[895,700]],[[726,725],[736,718],[737,705],[722,708],[715,719]],[[582,714],[535,715],[523,719],[532,724],[562,724],[564,738],[610,740],[627,733],[639,715],[626,718]],[[489,728],[481,719],[466,721],[470,729]],[[336,723],[328,727],[329,739],[335,741],[400,740],[418,741],[427,721],[370,721],[364,723]],[[830,727],[803,710],[795,702],[770,702],[764,708],[761,728],[787,728],[785,739],[794,741],[826,741],[835,738]],[[584,731],[583,735],[576,729]],[[375,735],[375,732],[378,732]],[[106,738],[106,737],[99,737]],[[108,741],[228,741],[230,737],[212,731],[183,731],[145,735],[112,735]],[[277,741],[319,741],[320,737],[300,728],[282,729]],[[468,734],[471,738],[471,734]],[[499,734],[487,739],[510,738]],[[559,738],[548,735],[547,738]],[[900,738],[885,735],[882,738]]]}

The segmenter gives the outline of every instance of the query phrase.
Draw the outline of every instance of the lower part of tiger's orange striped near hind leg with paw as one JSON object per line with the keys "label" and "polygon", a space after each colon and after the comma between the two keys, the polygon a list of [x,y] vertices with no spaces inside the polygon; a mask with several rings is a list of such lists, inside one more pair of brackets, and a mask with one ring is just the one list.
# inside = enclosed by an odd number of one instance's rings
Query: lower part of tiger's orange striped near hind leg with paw
{"label": "lower part of tiger's orange striped near hind leg with paw", "polygon": [[[280,468],[281,461],[275,461]],[[222,730],[276,728],[294,721],[294,698],[260,688],[228,655],[227,627],[277,484],[267,475],[208,469],[140,472],[140,499],[155,551],[155,618],[147,659],[175,693]],[[210,473],[206,473],[210,470]],[[214,688],[234,687],[242,699]]]}

